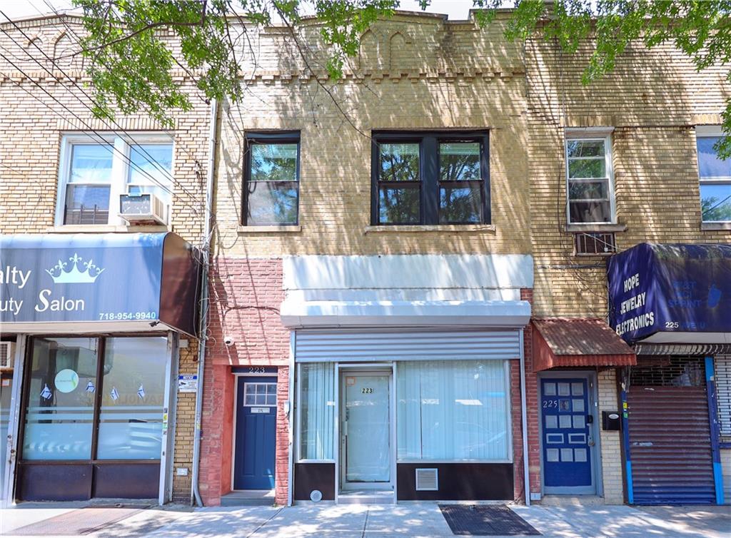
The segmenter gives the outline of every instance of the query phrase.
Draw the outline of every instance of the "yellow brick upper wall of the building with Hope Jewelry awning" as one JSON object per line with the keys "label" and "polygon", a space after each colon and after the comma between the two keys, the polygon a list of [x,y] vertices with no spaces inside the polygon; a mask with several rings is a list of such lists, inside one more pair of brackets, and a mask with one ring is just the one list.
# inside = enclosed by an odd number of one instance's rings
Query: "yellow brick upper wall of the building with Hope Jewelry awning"
{"label": "yellow brick upper wall of the building with Hope Jewelry awning", "polygon": [[729,242],[703,231],[694,126],[720,124],[731,86],[722,69],[696,72],[670,47],[632,45],[616,69],[583,86],[591,48],[561,54],[553,42],[526,43],[534,315],[607,316],[604,257],[577,257],[565,232],[566,127],[614,127],[616,211],[626,231],[618,251],[642,241]]}

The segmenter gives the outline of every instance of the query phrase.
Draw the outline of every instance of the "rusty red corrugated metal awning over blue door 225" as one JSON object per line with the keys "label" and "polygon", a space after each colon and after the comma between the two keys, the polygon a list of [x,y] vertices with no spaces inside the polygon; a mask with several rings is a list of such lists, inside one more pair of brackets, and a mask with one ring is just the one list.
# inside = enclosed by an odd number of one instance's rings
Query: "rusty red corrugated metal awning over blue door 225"
{"label": "rusty red corrugated metal awning over blue door 225", "polygon": [[602,319],[534,319],[533,371],[629,366],[637,355]]}

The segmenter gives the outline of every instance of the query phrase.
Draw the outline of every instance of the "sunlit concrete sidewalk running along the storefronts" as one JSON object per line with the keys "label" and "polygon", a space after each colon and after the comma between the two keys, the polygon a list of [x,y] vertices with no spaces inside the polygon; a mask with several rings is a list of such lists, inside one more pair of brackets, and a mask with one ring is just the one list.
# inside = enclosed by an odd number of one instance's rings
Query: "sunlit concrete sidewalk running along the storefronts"
{"label": "sunlit concrete sidewalk running along the storefronts", "polygon": [[[28,507],[0,511],[0,534],[74,508]],[[729,538],[731,507],[523,507],[512,509],[548,538]],[[49,536],[69,536],[44,534]],[[289,508],[152,508],[84,534],[97,538],[452,538],[433,503],[298,505]]]}

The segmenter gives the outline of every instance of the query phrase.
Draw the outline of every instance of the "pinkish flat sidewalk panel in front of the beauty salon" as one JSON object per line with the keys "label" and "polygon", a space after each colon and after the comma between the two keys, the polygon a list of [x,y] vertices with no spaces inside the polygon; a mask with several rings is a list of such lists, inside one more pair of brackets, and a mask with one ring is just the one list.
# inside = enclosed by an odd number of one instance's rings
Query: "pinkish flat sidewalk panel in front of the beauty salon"
{"label": "pinkish flat sidewalk panel in front of the beauty salon", "polygon": [[81,508],[31,523],[12,531],[14,536],[78,536],[91,534],[142,512],[139,508]]}

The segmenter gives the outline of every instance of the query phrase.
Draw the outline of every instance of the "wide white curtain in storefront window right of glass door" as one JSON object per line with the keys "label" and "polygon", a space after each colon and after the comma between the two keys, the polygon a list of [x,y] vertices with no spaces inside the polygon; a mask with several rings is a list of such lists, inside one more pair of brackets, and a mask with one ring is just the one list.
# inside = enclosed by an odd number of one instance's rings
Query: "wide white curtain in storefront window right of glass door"
{"label": "wide white curtain in storefront window right of glass door", "polygon": [[398,459],[510,459],[504,361],[409,361],[397,372]]}

